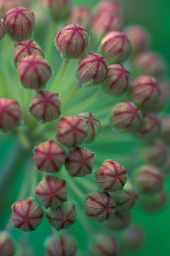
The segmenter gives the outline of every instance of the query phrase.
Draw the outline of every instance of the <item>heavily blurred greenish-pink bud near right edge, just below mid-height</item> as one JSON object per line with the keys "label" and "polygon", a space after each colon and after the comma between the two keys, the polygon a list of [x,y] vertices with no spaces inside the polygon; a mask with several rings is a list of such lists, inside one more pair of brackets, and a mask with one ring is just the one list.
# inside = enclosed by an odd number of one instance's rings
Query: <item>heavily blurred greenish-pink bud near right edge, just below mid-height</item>
{"label": "heavily blurred greenish-pink bud near right edge, just below mid-height", "polygon": [[162,165],[162,163],[167,159],[168,147],[163,141],[156,140],[149,145],[145,145],[141,149],[140,154],[142,159],[146,162]]}

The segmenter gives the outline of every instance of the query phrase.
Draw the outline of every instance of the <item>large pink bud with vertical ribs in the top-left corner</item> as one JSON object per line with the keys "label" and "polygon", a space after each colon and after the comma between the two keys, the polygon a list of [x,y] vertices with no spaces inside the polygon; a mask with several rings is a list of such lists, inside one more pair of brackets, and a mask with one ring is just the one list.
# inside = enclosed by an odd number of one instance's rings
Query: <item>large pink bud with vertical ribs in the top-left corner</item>
{"label": "large pink bud with vertical ribs in the top-left corner", "polygon": [[34,13],[23,7],[9,10],[3,17],[8,35],[15,41],[30,38],[34,30]]}

